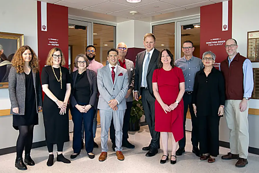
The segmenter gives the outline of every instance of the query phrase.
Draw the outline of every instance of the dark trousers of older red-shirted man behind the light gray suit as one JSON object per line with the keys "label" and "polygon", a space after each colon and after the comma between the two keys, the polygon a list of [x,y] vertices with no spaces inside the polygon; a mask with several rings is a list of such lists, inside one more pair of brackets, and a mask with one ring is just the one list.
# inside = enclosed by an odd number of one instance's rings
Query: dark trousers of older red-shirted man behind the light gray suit
{"label": "dark trousers of older red-shirted man behind the light gray suit", "polygon": [[[122,126],[122,143],[126,142],[129,138],[128,131],[129,131],[129,119],[130,119],[130,111],[132,108],[133,101],[126,102],[127,109],[125,110],[124,118],[123,118],[123,126]],[[111,121],[110,126],[110,139],[113,144],[115,144],[115,128],[113,125],[113,118]]]}

